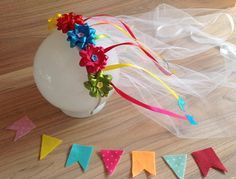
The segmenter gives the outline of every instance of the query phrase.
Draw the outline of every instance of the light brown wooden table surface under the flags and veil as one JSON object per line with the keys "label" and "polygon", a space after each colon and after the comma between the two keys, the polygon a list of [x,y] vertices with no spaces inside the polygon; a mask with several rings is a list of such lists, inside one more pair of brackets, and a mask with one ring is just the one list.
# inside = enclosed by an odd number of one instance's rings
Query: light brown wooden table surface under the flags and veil
{"label": "light brown wooden table surface under the flags and veil", "polygon": [[[177,7],[227,8],[233,0],[1,0],[0,1],[0,178],[106,178],[102,161],[95,153],[88,172],[78,165],[65,168],[72,143],[126,151],[113,177],[130,178],[132,150],[156,152],[157,176],[174,179],[161,159],[172,153],[190,154],[194,150],[214,147],[228,168],[226,175],[210,170],[208,178],[236,176],[236,141],[226,139],[179,139],[141,115],[131,104],[113,95],[105,109],[89,119],[73,119],[50,105],[37,90],[32,64],[34,54],[49,33],[47,18],[56,12],[79,12],[112,15],[145,12],[160,3]],[[14,132],[4,128],[27,114],[37,125],[29,135],[13,142]],[[235,129],[236,130],[236,129]],[[63,140],[48,157],[39,161],[41,135]],[[136,178],[148,178],[145,173]],[[186,178],[201,178],[197,165],[188,155]]]}

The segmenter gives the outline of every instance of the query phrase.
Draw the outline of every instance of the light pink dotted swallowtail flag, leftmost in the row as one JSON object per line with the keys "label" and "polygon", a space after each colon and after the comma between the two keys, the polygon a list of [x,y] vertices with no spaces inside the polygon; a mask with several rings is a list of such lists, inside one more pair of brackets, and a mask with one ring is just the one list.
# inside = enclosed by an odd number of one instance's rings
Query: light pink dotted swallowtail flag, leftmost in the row
{"label": "light pink dotted swallowtail flag, leftmost in the row", "polygon": [[6,129],[16,131],[16,135],[14,141],[20,139],[21,137],[28,134],[31,130],[35,128],[35,124],[28,118],[28,116],[24,116],[19,120],[15,121],[13,124],[8,126]]}

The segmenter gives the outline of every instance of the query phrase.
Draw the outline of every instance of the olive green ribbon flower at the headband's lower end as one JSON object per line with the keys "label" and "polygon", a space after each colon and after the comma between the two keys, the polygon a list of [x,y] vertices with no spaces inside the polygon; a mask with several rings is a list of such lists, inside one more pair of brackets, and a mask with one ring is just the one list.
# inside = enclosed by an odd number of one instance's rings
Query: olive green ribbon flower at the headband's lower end
{"label": "olive green ribbon flower at the headband's lower end", "polygon": [[111,86],[111,75],[105,75],[102,72],[96,74],[88,74],[88,81],[84,82],[85,88],[89,90],[92,97],[108,96],[113,89]]}

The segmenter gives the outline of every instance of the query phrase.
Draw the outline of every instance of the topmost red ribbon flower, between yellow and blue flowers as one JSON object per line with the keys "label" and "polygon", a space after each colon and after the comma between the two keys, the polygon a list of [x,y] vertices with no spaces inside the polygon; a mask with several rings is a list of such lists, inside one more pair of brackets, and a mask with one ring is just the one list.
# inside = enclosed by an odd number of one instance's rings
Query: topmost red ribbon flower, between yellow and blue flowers
{"label": "topmost red ribbon flower, between yellow and blue flowers", "polygon": [[70,12],[69,14],[63,14],[62,17],[57,19],[57,29],[62,30],[63,33],[74,30],[75,24],[83,25],[83,16]]}

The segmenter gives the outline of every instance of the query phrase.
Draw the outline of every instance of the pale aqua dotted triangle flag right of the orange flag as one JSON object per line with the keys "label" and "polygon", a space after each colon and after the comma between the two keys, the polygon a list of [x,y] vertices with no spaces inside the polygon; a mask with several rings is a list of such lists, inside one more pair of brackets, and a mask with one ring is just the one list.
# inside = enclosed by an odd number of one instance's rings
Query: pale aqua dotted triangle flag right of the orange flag
{"label": "pale aqua dotted triangle flag right of the orange flag", "polygon": [[165,155],[163,159],[179,179],[184,179],[187,154]]}

